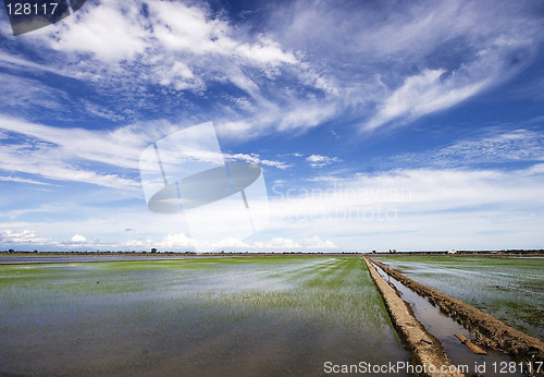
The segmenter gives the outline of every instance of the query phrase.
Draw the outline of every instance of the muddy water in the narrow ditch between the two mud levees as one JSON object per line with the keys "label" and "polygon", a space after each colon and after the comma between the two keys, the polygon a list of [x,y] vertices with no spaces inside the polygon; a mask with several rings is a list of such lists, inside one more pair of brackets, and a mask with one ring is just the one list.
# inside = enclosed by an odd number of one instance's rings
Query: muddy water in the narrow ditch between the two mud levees
{"label": "muddy water in the narrow ditch between the two mud levees", "polygon": [[[489,351],[486,355],[477,355],[465,346],[456,337],[456,333],[471,338],[471,333],[448,315],[441,312],[437,306],[432,305],[426,297],[403,285],[399,281],[390,277],[380,267],[375,266],[378,272],[399,292],[400,297],[406,301],[413,311],[416,318],[425,329],[438,339],[446,351],[446,355],[454,365],[467,366],[468,376],[473,374],[482,376],[505,376],[500,373],[506,366],[508,376],[526,376],[520,366],[512,362],[511,357],[499,352]],[[508,369],[510,365],[515,368]]]}

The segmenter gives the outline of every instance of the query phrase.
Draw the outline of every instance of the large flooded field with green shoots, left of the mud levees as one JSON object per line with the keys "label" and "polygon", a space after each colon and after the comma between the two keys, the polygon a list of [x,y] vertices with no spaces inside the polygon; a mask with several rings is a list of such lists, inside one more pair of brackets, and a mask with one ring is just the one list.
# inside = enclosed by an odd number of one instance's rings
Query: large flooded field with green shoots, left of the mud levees
{"label": "large flooded field with green shoots, left of the mud levees", "polygon": [[322,375],[408,361],[360,258],[0,266],[0,375]]}

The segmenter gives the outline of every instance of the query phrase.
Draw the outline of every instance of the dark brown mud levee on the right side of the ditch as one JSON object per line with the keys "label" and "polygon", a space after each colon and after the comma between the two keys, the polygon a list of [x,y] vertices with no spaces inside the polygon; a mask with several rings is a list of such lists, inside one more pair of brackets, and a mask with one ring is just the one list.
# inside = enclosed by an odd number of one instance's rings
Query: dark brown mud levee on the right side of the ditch
{"label": "dark brown mud levee on the right side of the ditch", "polygon": [[[484,348],[503,350],[524,362],[534,363],[544,361],[544,343],[540,339],[517,330],[462,301],[455,300],[432,288],[413,281],[380,262],[372,260],[372,263],[376,264],[412,291],[426,296],[431,303],[438,305],[446,314],[460,321],[470,331],[475,332],[477,339],[474,343]],[[544,374],[541,373],[539,375]]]}

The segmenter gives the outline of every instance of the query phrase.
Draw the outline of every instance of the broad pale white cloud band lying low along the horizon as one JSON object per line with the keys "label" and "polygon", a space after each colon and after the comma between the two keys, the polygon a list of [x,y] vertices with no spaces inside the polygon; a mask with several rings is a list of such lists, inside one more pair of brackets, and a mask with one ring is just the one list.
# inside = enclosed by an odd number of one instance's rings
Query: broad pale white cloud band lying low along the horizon
{"label": "broad pale white cloud band lying low along the horizon", "polygon": [[[83,216],[75,222],[2,221],[0,228],[12,229],[2,233],[4,247],[16,240],[38,248],[69,247],[58,240],[74,233],[87,241],[70,247],[90,250],[541,247],[543,185],[544,163],[510,171],[419,168],[355,174],[318,187],[292,187],[271,198],[269,223],[251,241],[228,234],[196,240],[183,230],[183,216],[150,214],[145,206],[112,211],[78,204],[71,208]],[[127,233],[127,228],[134,231]],[[60,233],[63,229],[72,234]],[[96,239],[107,241],[89,241]]]}

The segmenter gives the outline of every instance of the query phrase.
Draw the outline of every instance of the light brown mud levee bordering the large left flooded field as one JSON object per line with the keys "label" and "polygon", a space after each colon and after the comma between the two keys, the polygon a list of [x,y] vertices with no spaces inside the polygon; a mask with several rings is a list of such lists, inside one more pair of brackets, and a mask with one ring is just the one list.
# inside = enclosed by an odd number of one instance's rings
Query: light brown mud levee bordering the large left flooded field
{"label": "light brown mud levee bordering the large left flooded field", "polygon": [[370,276],[374,280],[385,301],[393,325],[407,344],[413,364],[424,366],[419,376],[465,376],[455,370],[447,358],[441,342],[430,335],[423,325],[413,316],[409,306],[399,297],[397,292],[382,279],[368,258],[364,258]]}

